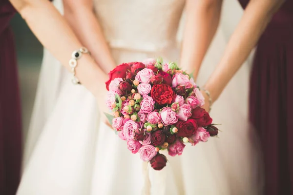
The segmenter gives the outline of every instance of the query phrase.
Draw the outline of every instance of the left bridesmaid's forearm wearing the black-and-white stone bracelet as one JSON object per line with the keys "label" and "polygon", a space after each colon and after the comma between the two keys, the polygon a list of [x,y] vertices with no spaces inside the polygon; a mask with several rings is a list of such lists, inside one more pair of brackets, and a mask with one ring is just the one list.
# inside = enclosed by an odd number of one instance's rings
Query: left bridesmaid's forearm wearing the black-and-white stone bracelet
{"label": "left bridesmaid's forearm wearing the black-and-white stone bracelet", "polygon": [[[70,71],[71,53],[82,44],[55,7],[47,0],[10,1],[42,44]],[[89,55],[78,60],[76,76],[94,95],[99,93],[96,86],[107,79]]]}

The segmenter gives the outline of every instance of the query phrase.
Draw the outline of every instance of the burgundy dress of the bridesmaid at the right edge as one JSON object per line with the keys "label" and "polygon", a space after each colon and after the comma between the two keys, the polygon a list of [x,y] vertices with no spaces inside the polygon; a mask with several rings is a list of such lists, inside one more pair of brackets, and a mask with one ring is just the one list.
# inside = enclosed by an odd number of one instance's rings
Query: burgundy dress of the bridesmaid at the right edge
{"label": "burgundy dress of the bridesmaid at the right edge", "polygon": [[292,74],[293,0],[287,0],[258,42],[251,74],[250,119],[263,149],[265,195],[293,195]]}

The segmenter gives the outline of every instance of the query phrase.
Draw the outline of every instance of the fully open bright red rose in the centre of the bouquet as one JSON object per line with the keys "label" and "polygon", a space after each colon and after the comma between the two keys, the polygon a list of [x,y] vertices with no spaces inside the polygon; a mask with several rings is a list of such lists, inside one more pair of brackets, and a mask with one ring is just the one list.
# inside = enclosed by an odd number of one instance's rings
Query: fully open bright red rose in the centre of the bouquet
{"label": "fully open bright red rose in the centre of the bouquet", "polygon": [[150,96],[159,104],[170,104],[175,93],[172,88],[166,84],[157,84],[151,88]]}

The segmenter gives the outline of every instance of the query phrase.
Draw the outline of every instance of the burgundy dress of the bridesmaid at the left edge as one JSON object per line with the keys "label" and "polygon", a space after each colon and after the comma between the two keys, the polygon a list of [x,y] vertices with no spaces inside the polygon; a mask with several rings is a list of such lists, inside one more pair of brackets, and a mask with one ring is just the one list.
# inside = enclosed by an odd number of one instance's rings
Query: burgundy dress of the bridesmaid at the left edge
{"label": "burgundy dress of the bridesmaid at the left edge", "polygon": [[0,195],[15,195],[21,169],[20,92],[9,28],[14,13],[8,0],[0,0]]}

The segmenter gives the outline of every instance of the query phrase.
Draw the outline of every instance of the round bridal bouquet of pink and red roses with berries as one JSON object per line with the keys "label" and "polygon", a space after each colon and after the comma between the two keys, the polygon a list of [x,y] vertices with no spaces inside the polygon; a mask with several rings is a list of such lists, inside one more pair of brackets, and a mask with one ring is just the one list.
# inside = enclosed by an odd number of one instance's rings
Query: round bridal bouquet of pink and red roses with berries
{"label": "round bridal bouquet of pink and red roses with berries", "polygon": [[167,157],[181,155],[185,143],[192,146],[216,136],[218,129],[201,106],[204,98],[187,73],[162,59],[123,63],[109,73],[106,104],[108,119],[118,136],[127,141],[155,170]]}

